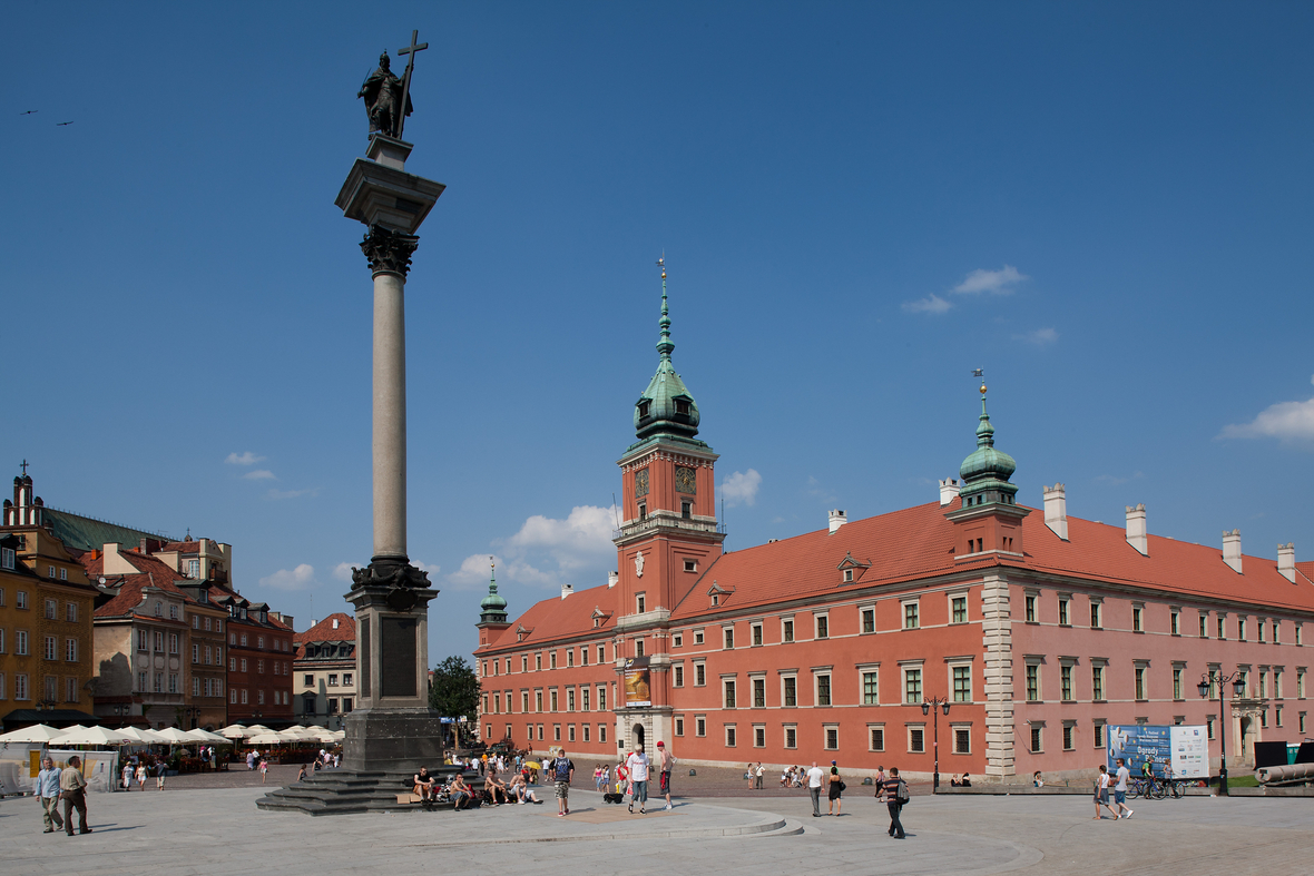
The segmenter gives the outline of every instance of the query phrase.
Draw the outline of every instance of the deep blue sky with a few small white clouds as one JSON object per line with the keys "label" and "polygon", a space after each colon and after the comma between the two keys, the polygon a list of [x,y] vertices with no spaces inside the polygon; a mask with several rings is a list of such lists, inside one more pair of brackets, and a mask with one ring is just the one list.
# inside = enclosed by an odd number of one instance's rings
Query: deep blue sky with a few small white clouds
{"label": "deep blue sky with a few small white clouds", "polygon": [[371,281],[332,200],[418,28],[435,659],[489,554],[514,613],[615,567],[664,250],[729,549],[934,500],[984,368],[1020,502],[1314,557],[1307,4],[372,8],[8,11],[0,468],[49,504],[230,541],[298,629],[347,608]]}

